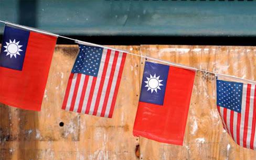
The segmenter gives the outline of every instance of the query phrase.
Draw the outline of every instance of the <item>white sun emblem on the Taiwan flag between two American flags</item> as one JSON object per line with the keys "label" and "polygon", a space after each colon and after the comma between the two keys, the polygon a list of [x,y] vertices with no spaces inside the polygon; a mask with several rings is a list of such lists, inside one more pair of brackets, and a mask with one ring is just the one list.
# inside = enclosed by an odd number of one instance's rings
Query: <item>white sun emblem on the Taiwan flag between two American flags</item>
{"label": "white sun emblem on the Taiwan flag between two American flags", "polygon": [[160,86],[163,86],[161,82],[163,80],[159,80],[159,77],[156,77],[156,74],[154,76],[150,75],[150,77],[146,77],[147,81],[144,81],[146,83],[145,87],[148,87],[147,90],[151,90],[151,93],[155,92],[157,93],[157,89],[161,90]]}

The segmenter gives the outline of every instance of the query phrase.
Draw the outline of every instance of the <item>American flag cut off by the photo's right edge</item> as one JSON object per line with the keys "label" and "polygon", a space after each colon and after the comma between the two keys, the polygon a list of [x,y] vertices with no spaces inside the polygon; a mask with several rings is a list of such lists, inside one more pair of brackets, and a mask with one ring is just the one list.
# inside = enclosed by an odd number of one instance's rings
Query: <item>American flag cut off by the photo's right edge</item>
{"label": "American flag cut off by the photo's right edge", "polygon": [[217,108],[224,129],[240,146],[256,149],[255,84],[217,79]]}

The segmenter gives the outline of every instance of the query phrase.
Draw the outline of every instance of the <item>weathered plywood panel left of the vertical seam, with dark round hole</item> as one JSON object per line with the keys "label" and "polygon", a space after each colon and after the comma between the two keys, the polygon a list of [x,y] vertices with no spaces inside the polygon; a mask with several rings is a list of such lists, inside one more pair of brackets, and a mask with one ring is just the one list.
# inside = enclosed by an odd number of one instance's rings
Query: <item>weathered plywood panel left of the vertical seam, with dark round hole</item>
{"label": "weathered plywood panel left of the vertical seam, with dark round hole", "polygon": [[[139,54],[138,46],[114,46]],[[0,159],[136,159],[140,58],[127,55],[112,119],[61,109],[77,45],[57,45],[41,112],[0,107]],[[63,127],[59,123],[63,122]]]}

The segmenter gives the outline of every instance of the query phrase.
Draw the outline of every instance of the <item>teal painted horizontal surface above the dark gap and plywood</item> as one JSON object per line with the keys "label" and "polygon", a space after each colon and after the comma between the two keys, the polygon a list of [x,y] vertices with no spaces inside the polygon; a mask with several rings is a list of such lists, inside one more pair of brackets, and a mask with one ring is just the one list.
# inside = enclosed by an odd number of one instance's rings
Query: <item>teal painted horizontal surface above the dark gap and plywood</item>
{"label": "teal painted horizontal surface above the dark gap and plywood", "polygon": [[31,17],[35,27],[62,35],[256,36],[255,1],[40,0],[34,16],[21,3],[29,1],[0,0],[0,19]]}

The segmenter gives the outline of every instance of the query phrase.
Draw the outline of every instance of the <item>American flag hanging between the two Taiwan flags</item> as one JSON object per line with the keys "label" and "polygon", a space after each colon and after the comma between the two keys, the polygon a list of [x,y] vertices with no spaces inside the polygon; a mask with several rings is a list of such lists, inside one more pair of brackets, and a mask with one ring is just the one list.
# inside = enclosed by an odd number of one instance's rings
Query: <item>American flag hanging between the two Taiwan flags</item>
{"label": "American flag hanging between the two Taiwan flags", "polygon": [[126,53],[79,44],[62,109],[112,118]]}

